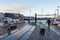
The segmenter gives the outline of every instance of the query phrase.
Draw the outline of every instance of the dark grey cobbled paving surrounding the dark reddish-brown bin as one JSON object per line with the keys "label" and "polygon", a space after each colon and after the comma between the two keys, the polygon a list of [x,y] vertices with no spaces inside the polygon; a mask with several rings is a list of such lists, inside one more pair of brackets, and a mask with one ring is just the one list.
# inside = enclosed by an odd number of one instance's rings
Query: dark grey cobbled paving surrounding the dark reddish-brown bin
{"label": "dark grey cobbled paving surrounding the dark reddish-brown bin", "polygon": [[[40,28],[45,28],[45,35],[40,34]],[[48,29],[45,24],[38,24],[28,40],[60,40],[60,35],[55,31]]]}

